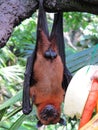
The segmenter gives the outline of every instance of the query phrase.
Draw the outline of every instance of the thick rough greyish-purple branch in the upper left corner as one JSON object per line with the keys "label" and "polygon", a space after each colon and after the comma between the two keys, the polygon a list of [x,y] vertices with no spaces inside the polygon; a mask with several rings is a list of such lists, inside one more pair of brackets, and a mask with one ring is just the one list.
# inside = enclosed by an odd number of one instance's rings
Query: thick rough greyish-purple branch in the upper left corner
{"label": "thick rough greyish-purple branch in the upper left corner", "polygon": [[0,0],[0,48],[5,46],[13,28],[37,7],[36,0]]}

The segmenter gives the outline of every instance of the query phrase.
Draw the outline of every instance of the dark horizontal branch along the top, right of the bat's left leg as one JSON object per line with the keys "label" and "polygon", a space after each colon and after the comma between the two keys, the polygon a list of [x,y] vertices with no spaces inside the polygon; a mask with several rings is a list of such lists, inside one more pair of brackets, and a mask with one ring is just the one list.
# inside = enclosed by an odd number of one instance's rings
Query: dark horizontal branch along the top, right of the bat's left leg
{"label": "dark horizontal branch along the top, right of the bat's left leg", "polygon": [[45,8],[48,12],[88,12],[98,14],[98,0],[46,0]]}

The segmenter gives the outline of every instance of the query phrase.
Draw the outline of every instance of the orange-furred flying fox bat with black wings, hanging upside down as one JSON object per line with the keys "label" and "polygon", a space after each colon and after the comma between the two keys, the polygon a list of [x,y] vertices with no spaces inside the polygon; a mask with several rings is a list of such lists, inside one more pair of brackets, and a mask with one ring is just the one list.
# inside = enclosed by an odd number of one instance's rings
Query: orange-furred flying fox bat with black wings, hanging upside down
{"label": "orange-furred flying fox bat with black wings, hanging upside down", "polygon": [[55,14],[49,36],[43,0],[39,0],[36,47],[27,60],[22,104],[24,114],[36,106],[38,126],[65,124],[60,118],[61,103],[71,76],[65,66],[62,17]]}

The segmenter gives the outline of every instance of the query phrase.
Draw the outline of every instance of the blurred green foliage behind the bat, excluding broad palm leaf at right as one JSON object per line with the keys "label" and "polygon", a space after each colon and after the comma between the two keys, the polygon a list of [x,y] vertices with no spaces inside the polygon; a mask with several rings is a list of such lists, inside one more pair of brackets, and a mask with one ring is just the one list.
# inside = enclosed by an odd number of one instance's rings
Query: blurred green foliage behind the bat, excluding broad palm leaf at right
{"label": "blurred green foliage behind the bat, excluding broad palm leaf at right", "polygon": [[[47,16],[51,30],[53,15]],[[97,23],[98,16],[92,14],[64,13],[67,55],[97,44]],[[0,50],[0,130],[37,130],[35,108],[28,116],[21,111],[26,60],[36,43],[36,24],[37,13],[14,29],[7,46]],[[65,118],[63,112],[62,116]],[[77,130],[78,122],[76,118],[66,117],[67,126],[51,125],[45,130]]]}

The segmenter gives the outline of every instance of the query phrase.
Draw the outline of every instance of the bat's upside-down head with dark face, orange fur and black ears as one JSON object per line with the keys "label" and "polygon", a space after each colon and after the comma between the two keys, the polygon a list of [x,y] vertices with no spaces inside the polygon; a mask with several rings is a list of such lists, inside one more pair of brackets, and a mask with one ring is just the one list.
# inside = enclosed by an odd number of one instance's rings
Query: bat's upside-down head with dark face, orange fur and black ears
{"label": "bat's upside-down head with dark face, orange fur and black ears", "polygon": [[46,105],[39,113],[38,113],[38,124],[40,127],[42,125],[50,125],[60,123],[65,125],[65,121],[60,118],[60,109],[58,110],[54,105]]}

